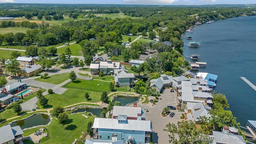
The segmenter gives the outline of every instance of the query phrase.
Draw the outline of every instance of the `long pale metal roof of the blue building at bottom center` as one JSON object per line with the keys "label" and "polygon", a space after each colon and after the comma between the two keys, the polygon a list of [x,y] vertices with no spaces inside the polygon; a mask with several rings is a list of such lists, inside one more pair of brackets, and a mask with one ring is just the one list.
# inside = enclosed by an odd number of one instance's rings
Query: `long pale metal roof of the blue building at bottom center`
{"label": "long pale metal roof of the blue building at bottom center", "polygon": [[127,120],[126,124],[118,124],[118,120],[113,118],[94,118],[92,128],[151,132],[152,122],[149,120]]}

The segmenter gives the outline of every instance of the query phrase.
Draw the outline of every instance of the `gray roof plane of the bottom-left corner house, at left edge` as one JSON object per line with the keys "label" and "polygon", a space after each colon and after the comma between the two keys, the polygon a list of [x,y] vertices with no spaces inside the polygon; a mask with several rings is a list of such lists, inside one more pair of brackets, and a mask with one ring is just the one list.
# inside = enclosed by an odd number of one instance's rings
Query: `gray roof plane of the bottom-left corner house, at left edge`
{"label": "gray roof plane of the bottom-left corner house, at left edge", "polygon": [[0,144],[14,139],[10,124],[0,127]]}

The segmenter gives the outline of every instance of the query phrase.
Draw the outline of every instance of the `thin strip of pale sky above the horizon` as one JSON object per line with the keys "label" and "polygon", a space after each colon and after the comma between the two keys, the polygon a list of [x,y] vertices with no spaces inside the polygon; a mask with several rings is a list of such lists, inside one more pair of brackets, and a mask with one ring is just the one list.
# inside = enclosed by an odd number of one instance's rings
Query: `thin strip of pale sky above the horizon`
{"label": "thin strip of pale sky above the horizon", "polygon": [[45,4],[256,4],[255,0],[0,0],[0,3],[45,3]]}

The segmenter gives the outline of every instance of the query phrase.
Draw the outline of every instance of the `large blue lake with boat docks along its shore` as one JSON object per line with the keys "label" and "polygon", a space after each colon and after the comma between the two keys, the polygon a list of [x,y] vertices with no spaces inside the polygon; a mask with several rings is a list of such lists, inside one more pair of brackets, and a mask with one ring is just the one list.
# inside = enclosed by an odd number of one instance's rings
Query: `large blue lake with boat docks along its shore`
{"label": "large blue lake with boat docks along its shore", "polygon": [[[256,16],[218,20],[196,26],[193,33],[186,32],[182,38],[186,60],[195,62],[189,57],[199,54],[199,61],[207,62],[207,67],[192,72],[218,75],[214,93],[226,95],[230,110],[241,126],[246,126],[247,120],[256,120],[256,91],[240,78],[244,76],[256,85],[255,22]],[[193,36],[192,40],[187,40],[187,35]],[[201,42],[200,47],[186,46],[192,41]]]}

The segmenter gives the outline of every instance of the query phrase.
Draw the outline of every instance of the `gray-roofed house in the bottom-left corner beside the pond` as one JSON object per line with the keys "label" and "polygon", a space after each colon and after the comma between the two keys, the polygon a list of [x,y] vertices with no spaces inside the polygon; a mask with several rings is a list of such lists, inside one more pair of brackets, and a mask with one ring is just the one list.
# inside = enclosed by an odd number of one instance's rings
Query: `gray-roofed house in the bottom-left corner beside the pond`
{"label": "gray-roofed house in the bottom-left corner beside the pond", "polygon": [[23,144],[20,126],[11,127],[10,124],[0,127],[0,144]]}

